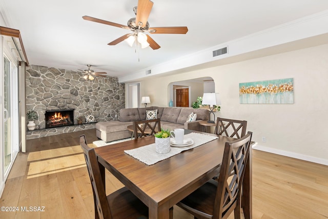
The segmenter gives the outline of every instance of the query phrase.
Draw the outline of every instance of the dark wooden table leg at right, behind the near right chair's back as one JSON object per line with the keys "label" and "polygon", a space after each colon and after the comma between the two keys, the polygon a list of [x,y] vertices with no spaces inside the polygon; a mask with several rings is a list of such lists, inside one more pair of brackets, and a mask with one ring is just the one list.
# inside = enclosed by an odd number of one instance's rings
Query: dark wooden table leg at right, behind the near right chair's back
{"label": "dark wooden table leg at right, behind the near right chair's back", "polygon": [[[250,146],[251,147],[251,146]],[[245,175],[242,182],[241,207],[245,219],[252,218],[252,147],[246,164]]]}

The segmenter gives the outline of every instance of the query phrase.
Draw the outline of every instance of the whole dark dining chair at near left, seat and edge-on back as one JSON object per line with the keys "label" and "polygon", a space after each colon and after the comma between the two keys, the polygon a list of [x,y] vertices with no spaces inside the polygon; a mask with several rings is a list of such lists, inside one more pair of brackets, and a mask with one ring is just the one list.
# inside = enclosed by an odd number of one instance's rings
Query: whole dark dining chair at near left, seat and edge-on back
{"label": "whole dark dining chair at near left, seat and edge-on back", "polygon": [[80,145],[85,155],[91,180],[95,218],[148,218],[148,207],[126,187],[106,196],[95,151],[88,147],[85,135],[80,136]]}

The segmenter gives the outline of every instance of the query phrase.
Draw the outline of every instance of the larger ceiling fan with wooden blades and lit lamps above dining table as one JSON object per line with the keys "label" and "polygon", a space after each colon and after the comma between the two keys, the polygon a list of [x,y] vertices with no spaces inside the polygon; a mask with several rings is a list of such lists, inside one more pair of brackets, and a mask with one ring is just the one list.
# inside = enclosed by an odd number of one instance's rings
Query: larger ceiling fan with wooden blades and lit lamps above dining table
{"label": "larger ceiling fan with wooden blades and lit lamps above dining table", "polygon": [[116,24],[109,21],[104,21],[102,19],[83,16],[83,19],[87,21],[97,22],[101,24],[107,24],[114,27],[124,28],[131,30],[133,33],[125,34],[114,41],[110,42],[108,45],[116,45],[122,41],[126,41],[130,46],[133,46],[133,43],[139,43],[141,48],[146,48],[150,46],[152,49],[159,49],[160,46],[154,41],[149,34],[145,34],[144,32],[148,32],[151,34],[155,33],[173,33],[173,34],[186,34],[188,32],[187,27],[149,27],[148,17],[150,11],[153,7],[153,2],[150,0],[139,0],[138,6],[133,8],[136,17],[129,19],[128,26]]}

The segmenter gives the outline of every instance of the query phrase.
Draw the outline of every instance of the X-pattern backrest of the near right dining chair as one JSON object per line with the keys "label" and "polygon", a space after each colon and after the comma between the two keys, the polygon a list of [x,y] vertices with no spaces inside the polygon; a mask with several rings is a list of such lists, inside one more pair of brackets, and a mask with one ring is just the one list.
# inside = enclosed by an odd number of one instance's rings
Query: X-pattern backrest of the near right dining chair
{"label": "X-pattern backrest of the near right dining chair", "polygon": [[226,142],[224,146],[213,218],[222,218],[230,209],[240,207],[241,186],[251,140],[252,132],[248,132],[235,141]]}

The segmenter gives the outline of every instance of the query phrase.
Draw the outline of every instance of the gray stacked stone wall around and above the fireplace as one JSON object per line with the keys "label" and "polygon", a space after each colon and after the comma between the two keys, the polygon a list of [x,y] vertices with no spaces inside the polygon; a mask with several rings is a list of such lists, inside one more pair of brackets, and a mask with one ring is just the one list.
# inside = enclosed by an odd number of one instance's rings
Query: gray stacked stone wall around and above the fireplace
{"label": "gray stacked stone wall around and above the fireplace", "polygon": [[125,85],[117,77],[95,76],[88,82],[84,75],[36,65],[26,69],[26,111],[37,112],[37,128],[45,128],[46,110],[74,109],[77,124],[77,117],[92,113],[98,122],[113,121],[125,108]]}

